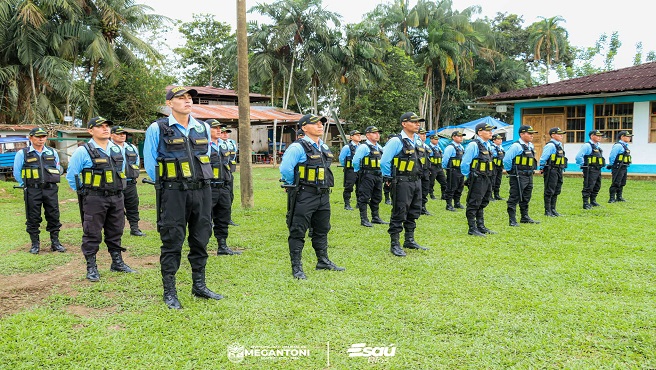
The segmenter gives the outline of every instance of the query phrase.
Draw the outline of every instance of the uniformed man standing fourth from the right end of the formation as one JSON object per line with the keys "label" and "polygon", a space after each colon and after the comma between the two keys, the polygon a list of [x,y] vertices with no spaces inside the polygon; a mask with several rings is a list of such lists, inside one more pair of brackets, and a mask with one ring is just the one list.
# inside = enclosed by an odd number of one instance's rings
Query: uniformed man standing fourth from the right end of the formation
{"label": "uniformed man standing fourth from the right end of the formation", "polygon": [[539,224],[528,215],[528,204],[533,194],[533,171],[537,168],[535,150],[533,148],[533,127],[519,127],[519,140],[514,142],[503,159],[503,166],[510,177],[510,196],[508,197],[508,218],[510,226],[519,226],[516,219],[516,208],[519,204],[521,219],[525,224]]}

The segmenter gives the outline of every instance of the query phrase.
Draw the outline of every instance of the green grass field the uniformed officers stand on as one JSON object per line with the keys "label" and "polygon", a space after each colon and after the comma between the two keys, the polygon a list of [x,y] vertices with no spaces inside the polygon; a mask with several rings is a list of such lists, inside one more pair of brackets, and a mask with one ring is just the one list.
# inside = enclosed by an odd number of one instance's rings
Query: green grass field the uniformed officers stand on
{"label": "green grass field the uniformed officers stand on", "polygon": [[[298,281],[279,173],[256,168],[253,176],[255,207],[235,201],[240,226],[228,239],[244,253],[217,257],[216,240],[208,248],[208,286],[226,298],[193,298],[183,258],[182,311],[162,303],[152,187],[139,186],[147,236],[123,238],[126,262],[139,273],[111,273],[101,246],[101,282],[94,284],[84,279],[75,194],[60,190],[69,253],[47,251],[42,232],[46,252],[33,256],[22,194],[0,183],[0,278],[15,285],[0,295],[0,368],[656,368],[654,182],[629,181],[629,201],[607,204],[604,179],[602,207],[584,211],[582,180],[566,178],[558,203],[565,217],[547,218],[536,177],[531,216],[542,223],[509,227],[506,203],[493,202],[486,224],[499,234],[487,238],[467,235],[464,211],[430,201],[434,216],[420,218],[416,233],[430,250],[406,258],[389,253],[385,226],[359,226],[336,187],[329,255],[346,271],[315,271],[306,243],[308,280]],[[384,219],[389,209],[381,205]],[[39,282],[45,294],[31,290]],[[358,343],[390,347],[388,354],[394,347],[394,356],[349,357]],[[233,363],[231,345],[251,352]],[[255,356],[292,347],[306,355]]]}

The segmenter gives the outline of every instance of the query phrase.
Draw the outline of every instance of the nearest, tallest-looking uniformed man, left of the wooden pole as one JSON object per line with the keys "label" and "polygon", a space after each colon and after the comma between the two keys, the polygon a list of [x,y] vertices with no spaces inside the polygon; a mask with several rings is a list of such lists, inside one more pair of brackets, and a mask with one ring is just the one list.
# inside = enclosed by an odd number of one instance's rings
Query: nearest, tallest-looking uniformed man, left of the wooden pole
{"label": "nearest, tallest-looking uniformed man, left of the wooden pole", "polygon": [[212,163],[209,125],[191,116],[196,90],[173,87],[166,93],[171,115],[146,130],[144,167],[156,180],[157,229],[162,240],[160,264],[164,303],[181,309],[175,275],[180,268],[182,244],[189,229],[191,293],[221,299],[205,284],[207,243],[212,233]]}

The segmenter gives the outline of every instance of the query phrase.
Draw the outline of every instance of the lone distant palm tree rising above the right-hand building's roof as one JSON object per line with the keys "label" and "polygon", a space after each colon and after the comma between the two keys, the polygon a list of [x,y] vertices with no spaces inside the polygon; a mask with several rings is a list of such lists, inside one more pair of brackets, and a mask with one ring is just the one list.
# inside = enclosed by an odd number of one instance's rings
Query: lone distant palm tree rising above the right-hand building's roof
{"label": "lone distant palm tree rising above the right-hand building's roof", "polygon": [[547,67],[546,82],[549,83],[549,71],[552,62],[558,62],[561,51],[566,49],[567,31],[559,25],[565,20],[561,16],[540,17],[542,21],[529,27],[529,44],[533,48],[535,60],[544,59]]}

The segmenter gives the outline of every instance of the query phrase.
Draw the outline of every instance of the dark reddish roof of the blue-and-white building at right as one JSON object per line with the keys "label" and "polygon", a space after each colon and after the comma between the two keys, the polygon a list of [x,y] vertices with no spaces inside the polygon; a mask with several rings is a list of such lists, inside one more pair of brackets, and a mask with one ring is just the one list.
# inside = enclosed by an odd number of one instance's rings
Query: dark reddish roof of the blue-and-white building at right
{"label": "dark reddish roof of the blue-and-white building at right", "polygon": [[524,100],[556,96],[619,93],[656,89],[656,62],[527,87],[478,98],[479,101]]}

